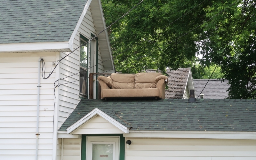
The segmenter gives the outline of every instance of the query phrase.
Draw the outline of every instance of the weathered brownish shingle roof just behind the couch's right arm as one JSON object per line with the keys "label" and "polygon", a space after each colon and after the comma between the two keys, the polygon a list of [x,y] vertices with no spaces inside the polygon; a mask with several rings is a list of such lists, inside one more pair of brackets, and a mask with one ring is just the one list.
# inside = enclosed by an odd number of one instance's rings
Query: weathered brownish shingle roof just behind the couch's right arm
{"label": "weathered brownish shingle roof just behind the couch's right arm", "polygon": [[[166,99],[182,99],[186,88],[190,68],[166,69],[168,76],[168,90],[165,90]],[[146,70],[156,72],[156,70]]]}

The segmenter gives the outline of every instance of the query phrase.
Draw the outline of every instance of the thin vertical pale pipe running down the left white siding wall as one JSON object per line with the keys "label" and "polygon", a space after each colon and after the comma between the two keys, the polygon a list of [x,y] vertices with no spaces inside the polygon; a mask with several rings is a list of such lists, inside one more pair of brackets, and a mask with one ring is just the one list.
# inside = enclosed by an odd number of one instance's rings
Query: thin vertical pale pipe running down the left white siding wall
{"label": "thin vertical pale pipe running down the left white siding wall", "polygon": [[39,97],[40,97],[40,69],[41,69],[41,60],[38,59],[38,84],[37,84],[37,111],[36,111],[36,160],[38,156],[38,136],[39,136]]}

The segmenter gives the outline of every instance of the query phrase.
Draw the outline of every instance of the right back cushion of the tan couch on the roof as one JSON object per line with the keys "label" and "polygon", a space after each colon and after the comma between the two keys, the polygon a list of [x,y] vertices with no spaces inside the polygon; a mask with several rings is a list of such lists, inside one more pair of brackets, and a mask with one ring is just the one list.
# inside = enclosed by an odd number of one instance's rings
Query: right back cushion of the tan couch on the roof
{"label": "right back cushion of the tan couch on the roof", "polygon": [[156,83],[155,78],[161,73],[136,73],[135,83]]}

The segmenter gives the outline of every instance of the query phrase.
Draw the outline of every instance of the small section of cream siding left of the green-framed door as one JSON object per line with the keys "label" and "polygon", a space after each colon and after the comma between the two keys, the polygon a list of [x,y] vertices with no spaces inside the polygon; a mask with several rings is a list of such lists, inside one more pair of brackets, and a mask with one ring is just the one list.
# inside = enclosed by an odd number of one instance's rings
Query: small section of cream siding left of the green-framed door
{"label": "small section of cream siding left of the green-framed door", "polygon": [[63,139],[63,160],[81,160],[81,140]]}

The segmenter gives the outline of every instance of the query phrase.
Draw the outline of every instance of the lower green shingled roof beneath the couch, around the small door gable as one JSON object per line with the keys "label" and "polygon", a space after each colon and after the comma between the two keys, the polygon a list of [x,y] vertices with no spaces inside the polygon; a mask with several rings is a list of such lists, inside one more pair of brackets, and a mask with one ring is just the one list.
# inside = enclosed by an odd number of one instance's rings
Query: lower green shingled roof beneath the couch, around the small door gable
{"label": "lower green shingled roof beneath the couch, around the small door gable", "polygon": [[130,130],[144,131],[256,131],[256,100],[86,100],[82,99],[60,131],[92,109],[116,114]]}

